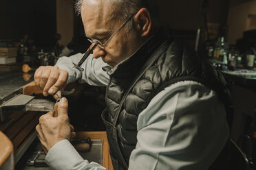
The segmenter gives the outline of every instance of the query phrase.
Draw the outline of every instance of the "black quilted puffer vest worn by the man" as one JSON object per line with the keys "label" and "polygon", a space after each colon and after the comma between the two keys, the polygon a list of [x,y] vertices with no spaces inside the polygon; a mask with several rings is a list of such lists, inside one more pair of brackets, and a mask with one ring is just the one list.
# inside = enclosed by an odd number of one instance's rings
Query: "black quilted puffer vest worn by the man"
{"label": "black quilted puffer vest worn by the man", "polygon": [[102,117],[115,170],[128,169],[137,143],[138,115],[165,87],[193,80],[215,90],[222,101],[228,96],[224,77],[207,60],[164,32],[158,32],[115,71],[109,66],[103,69],[110,81]]}

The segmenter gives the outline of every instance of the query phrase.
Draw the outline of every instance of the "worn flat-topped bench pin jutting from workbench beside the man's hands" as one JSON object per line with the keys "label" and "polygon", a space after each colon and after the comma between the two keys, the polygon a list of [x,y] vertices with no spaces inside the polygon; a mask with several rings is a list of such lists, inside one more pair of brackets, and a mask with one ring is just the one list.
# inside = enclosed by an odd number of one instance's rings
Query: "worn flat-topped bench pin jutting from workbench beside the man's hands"
{"label": "worn flat-topped bench pin jutting from workbench beside the man's hands", "polygon": [[54,104],[47,99],[35,99],[34,96],[14,93],[0,102],[0,121],[5,119],[6,114],[14,111],[50,112],[54,110]]}

